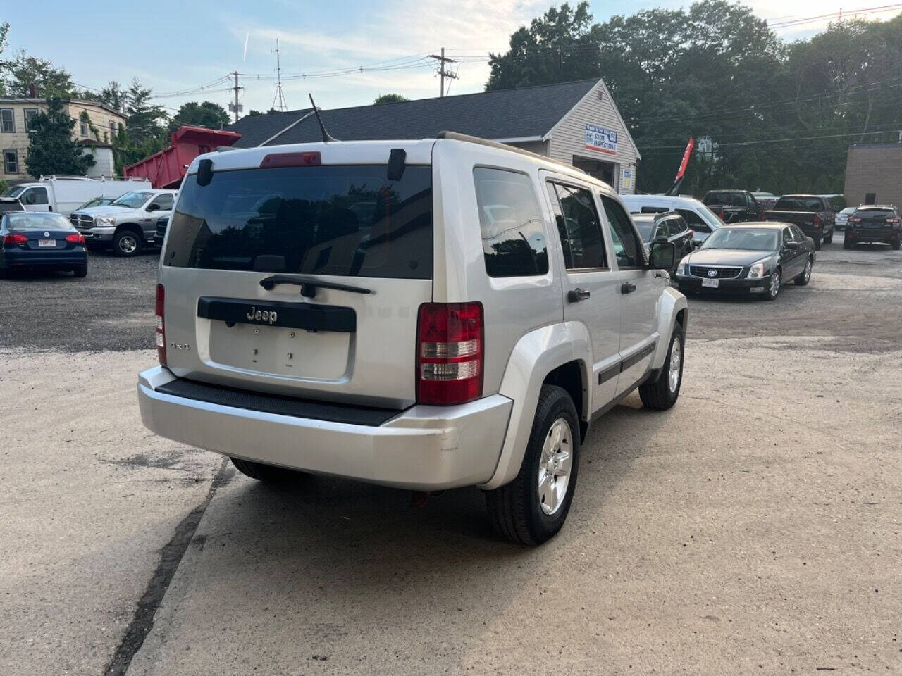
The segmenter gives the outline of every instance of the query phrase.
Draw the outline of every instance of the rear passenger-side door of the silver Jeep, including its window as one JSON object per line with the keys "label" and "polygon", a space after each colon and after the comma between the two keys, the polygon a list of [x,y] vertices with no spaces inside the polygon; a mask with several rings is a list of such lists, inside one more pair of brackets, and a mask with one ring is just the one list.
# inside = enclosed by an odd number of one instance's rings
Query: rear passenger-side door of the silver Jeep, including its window
{"label": "rear passenger-side door of the silver Jeep, including its window", "polygon": [[592,340],[595,411],[614,397],[620,374],[618,282],[592,189],[570,178],[548,178],[546,187],[564,257],[564,320],[585,324]]}

